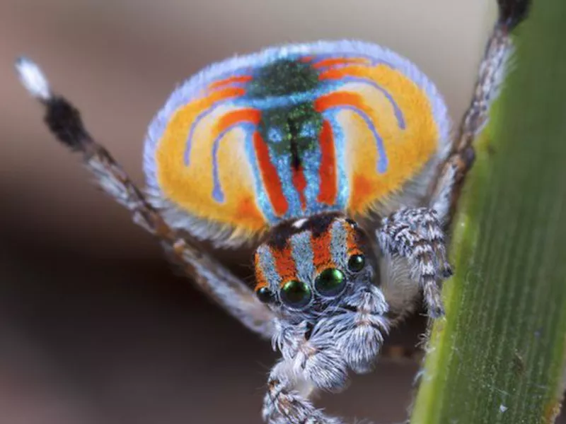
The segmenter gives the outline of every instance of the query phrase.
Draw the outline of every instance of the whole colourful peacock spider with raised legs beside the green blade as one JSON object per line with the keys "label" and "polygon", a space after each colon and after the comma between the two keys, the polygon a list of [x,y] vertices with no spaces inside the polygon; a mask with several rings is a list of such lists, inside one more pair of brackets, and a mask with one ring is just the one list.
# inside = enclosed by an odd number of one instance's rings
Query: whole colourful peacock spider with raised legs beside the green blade
{"label": "whole colourful peacock spider with raised legs beside the green blade", "polygon": [[[281,353],[267,423],[342,423],[310,400],[369,372],[391,326],[444,314],[446,225],[509,50],[497,25],[456,141],[437,88],[408,59],[343,40],[270,47],[200,71],[149,125],[142,192],[78,110],[21,58],[45,122],[134,222]],[[255,288],[205,251],[255,247]]]}

